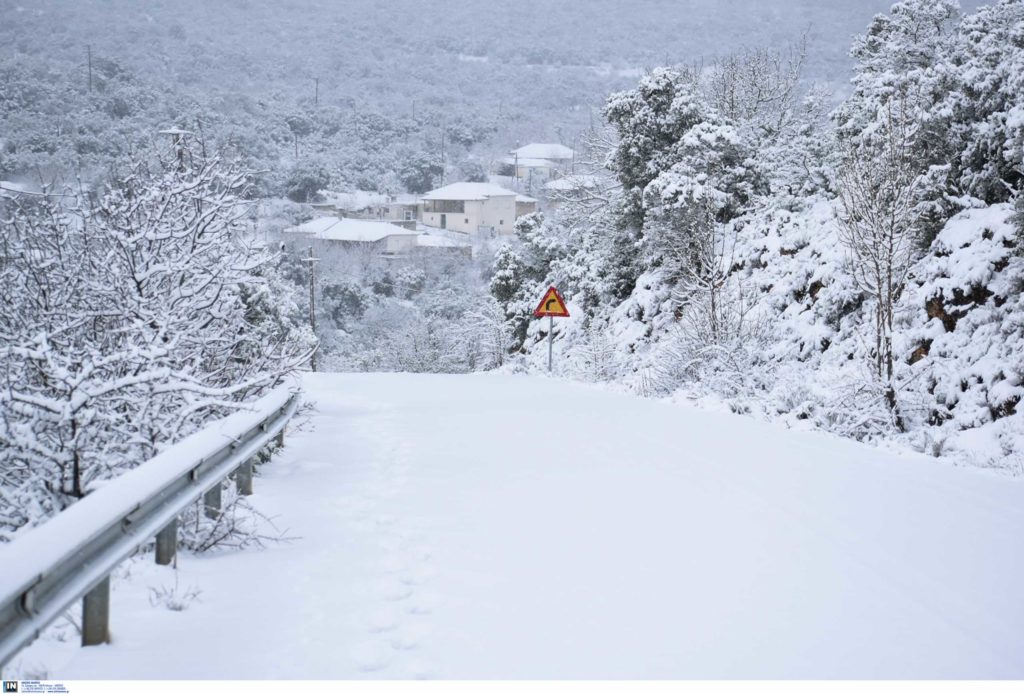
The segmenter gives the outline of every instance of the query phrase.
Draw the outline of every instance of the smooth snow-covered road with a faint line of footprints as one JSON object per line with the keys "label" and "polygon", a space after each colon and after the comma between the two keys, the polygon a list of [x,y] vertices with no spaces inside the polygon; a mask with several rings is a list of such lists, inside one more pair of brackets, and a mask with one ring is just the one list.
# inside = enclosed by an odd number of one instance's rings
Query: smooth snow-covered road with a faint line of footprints
{"label": "smooth snow-covered road with a faint line of footprints", "polygon": [[138,562],[51,678],[1021,678],[1024,486],[532,377],[318,375],[298,536]]}

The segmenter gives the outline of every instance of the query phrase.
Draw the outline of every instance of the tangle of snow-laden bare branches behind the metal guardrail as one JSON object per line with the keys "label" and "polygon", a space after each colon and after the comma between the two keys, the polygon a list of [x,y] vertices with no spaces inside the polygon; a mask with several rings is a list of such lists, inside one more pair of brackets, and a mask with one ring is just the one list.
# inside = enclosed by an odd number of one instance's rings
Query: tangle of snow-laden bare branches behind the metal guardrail
{"label": "tangle of snow-laden bare branches behind the metal guardrail", "polygon": [[15,201],[0,220],[5,534],[308,356],[270,256],[246,235],[248,177],[179,155],[132,164],[96,197]]}

